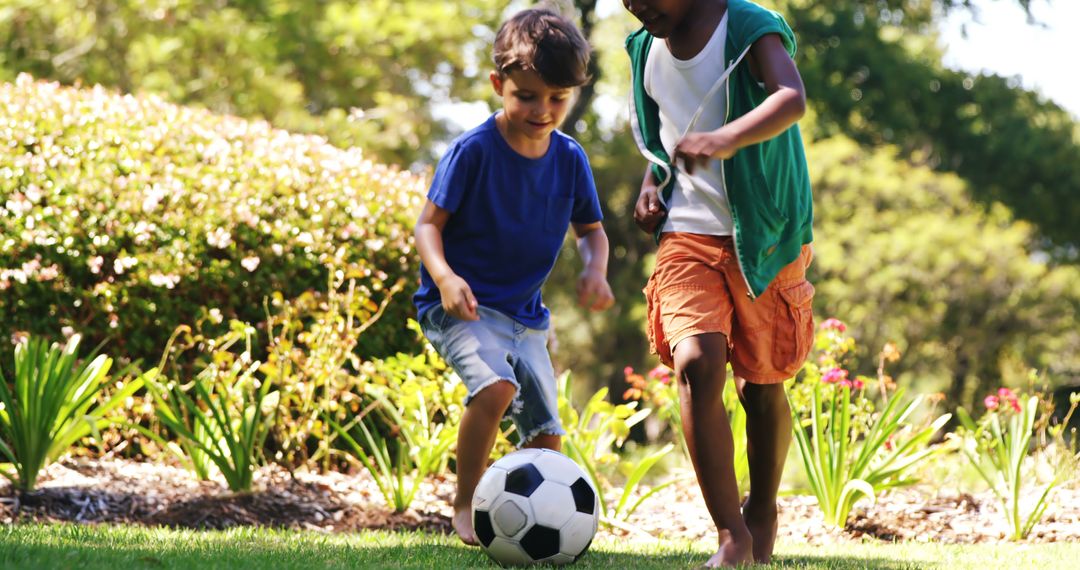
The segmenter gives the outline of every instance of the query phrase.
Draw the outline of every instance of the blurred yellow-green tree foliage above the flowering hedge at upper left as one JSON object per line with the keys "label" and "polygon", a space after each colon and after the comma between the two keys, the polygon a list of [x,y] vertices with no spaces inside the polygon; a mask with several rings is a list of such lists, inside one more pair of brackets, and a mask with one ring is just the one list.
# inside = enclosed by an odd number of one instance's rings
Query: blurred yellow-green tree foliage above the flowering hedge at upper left
{"label": "blurred yellow-green tree foliage above the flowering hedge at upper left", "polygon": [[9,0],[0,79],[154,93],[409,166],[449,132],[432,101],[483,92],[508,1]]}

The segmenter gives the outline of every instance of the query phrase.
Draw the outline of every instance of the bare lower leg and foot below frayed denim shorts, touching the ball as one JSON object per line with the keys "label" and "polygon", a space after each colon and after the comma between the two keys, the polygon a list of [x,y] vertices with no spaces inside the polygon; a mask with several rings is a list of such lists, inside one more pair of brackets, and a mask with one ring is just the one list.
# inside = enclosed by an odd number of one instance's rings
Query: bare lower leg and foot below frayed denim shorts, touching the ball
{"label": "bare lower leg and foot below frayed denim shorts, touching the ball", "polygon": [[472,499],[487,467],[502,415],[513,402],[517,389],[499,381],[477,393],[465,406],[458,428],[458,488],[454,498],[454,530],[465,544],[478,544],[472,524]]}

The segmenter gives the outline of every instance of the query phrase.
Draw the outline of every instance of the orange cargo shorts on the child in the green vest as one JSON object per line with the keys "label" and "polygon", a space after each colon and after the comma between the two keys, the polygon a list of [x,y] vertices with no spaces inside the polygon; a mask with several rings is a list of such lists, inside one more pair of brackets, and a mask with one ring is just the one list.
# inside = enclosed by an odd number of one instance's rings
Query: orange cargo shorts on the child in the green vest
{"label": "orange cargo shorts on the child in the green vest", "polygon": [[649,348],[674,368],[681,340],[721,332],[737,377],[759,384],[792,378],[813,342],[813,285],[806,279],[812,258],[804,245],[752,300],[730,235],[665,233],[645,287]]}

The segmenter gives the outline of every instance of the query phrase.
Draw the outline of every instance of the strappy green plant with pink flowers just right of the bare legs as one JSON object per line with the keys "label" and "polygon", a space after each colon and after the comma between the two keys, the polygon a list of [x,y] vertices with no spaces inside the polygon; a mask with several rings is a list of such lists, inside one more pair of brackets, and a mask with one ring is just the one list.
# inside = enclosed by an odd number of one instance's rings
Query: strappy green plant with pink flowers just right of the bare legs
{"label": "strappy green plant with pink flowers just right of the bare legs", "polygon": [[[949,415],[915,424],[913,412],[927,399],[904,403],[903,389],[885,374],[885,365],[900,357],[887,344],[878,357],[878,378],[850,376],[847,356],[855,348],[847,327],[836,318],[823,322],[815,340],[818,358],[802,369],[788,391],[793,430],[802,467],[825,520],[842,527],[856,501],[872,501],[883,490],[916,483],[908,472],[937,452],[934,433]],[[875,386],[875,388],[872,388]],[[881,408],[867,394],[876,390]]]}

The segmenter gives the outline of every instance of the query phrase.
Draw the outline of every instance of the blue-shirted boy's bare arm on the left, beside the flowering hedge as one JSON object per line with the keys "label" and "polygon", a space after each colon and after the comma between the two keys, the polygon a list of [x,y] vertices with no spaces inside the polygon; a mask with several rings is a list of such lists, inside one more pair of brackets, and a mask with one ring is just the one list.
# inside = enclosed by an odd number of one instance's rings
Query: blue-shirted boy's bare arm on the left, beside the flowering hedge
{"label": "blue-shirted boy's bare arm on the left, beside the flowering hedge", "polygon": [[449,211],[436,206],[429,200],[423,205],[420,219],[417,220],[413,232],[416,236],[416,249],[420,253],[424,269],[438,287],[443,298],[443,309],[450,316],[463,321],[478,321],[476,297],[473,296],[472,288],[446,262],[443,228],[446,227],[448,219],[450,219]]}

